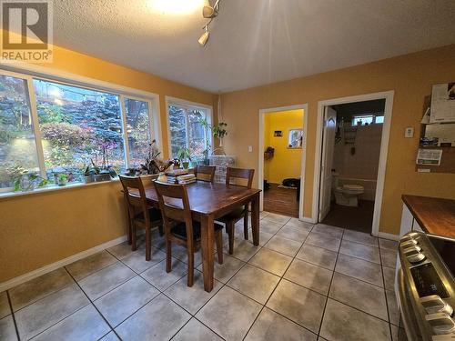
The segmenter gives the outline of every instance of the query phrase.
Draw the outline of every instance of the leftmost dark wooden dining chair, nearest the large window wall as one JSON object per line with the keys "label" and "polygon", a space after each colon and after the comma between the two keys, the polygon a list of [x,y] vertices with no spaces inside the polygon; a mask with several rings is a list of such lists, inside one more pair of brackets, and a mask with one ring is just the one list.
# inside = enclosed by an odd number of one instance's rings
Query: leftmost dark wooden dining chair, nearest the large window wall
{"label": "leftmost dark wooden dining chair, nearest the large window wall", "polygon": [[[152,227],[158,227],[159,234],[163,236],[163,219],[161,211],[147,205],[146,191],[142,180],[138,176],[118,176],[123,186],[123,194],[128,211],[128,236],[131,239],[131,249],[137,249],[136,226],[146,230],[146,260],[150,260],[152,253]],[[136,192],[132,192],[135,190]]]}

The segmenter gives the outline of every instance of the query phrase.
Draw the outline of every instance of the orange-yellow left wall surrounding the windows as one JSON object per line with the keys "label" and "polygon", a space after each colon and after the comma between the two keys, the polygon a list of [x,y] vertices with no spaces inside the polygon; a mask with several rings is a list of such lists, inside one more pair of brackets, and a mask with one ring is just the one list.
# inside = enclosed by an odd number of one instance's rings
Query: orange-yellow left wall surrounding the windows
{"label": "orange-yellow left wall surrounding the windows", "polygon": [[[165,95],[214,105],[217,124],[217,95],[58,46],[54,63],[41,65],[159,95],[165,156]],[[119,182],[0,198],[0,283],[124,235]]]}

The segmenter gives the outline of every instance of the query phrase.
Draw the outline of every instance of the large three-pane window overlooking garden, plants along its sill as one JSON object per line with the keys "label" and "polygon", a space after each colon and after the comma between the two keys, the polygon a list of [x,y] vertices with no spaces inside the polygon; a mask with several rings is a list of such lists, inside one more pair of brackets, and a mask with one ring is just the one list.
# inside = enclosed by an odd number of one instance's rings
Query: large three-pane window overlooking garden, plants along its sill
{"label": "large three-pane window overlooking garden, plants along its sill", "polygon": [[78,181],[92,161],[117,172],[143,163],[150,110],[147,99],[0,71],[0,189],[18,171]]}

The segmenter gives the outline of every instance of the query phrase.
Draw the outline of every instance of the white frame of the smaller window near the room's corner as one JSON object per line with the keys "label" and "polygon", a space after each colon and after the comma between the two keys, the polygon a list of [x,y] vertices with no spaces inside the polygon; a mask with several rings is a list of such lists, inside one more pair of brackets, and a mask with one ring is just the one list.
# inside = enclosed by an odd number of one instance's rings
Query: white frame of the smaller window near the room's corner
{"label": "white frame of the smaller window near the room's corner", "polygon": [[[174,105],[174,106],[179,106],[185,109],[189,110],[194,110],[194,109],[199,109],[199,110],[205,110],[207,112],[207,123],[208,125],[213,124],[213,105],[204,105],[202,103],[197,103],[197,102],[191,102],[187,101],[185,99],[181,98],[176,98],[176,97],[171,97],[171,96],[165,96],[165,102],[166,102],[166,125],[167,125],[167,150],[169,153],[169,158],[173,157],[172,155],[172,145],[171,145],[171,134],[170,134],[170,125],[169,125],[169,105]],[[186,140],[187,140],[187,147],[189,147],[189,120],[188,116],[185,116],[185,125],[187,127],[187,134],[186,134]],[[204,131],[204,134],[207,134],[206,131]],[[213,136],[208,132],[208,136],[206,136],[206,139],[208,140],[208,144],[211,145],[213,149]],[[213,150],[212,150],[213,151]]]}

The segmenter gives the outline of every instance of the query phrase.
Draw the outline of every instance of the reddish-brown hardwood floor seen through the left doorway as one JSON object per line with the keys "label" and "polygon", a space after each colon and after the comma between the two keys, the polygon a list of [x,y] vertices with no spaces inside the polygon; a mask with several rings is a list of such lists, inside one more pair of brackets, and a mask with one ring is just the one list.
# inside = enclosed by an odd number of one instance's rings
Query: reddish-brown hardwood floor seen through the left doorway
{"label": "reddish-brown hardwood floor seen through the left doorway", "polygon": [[278,188],[278,184],[270,184],[264,191],[264,211],[279,215],[298,218],[297,189]]}

